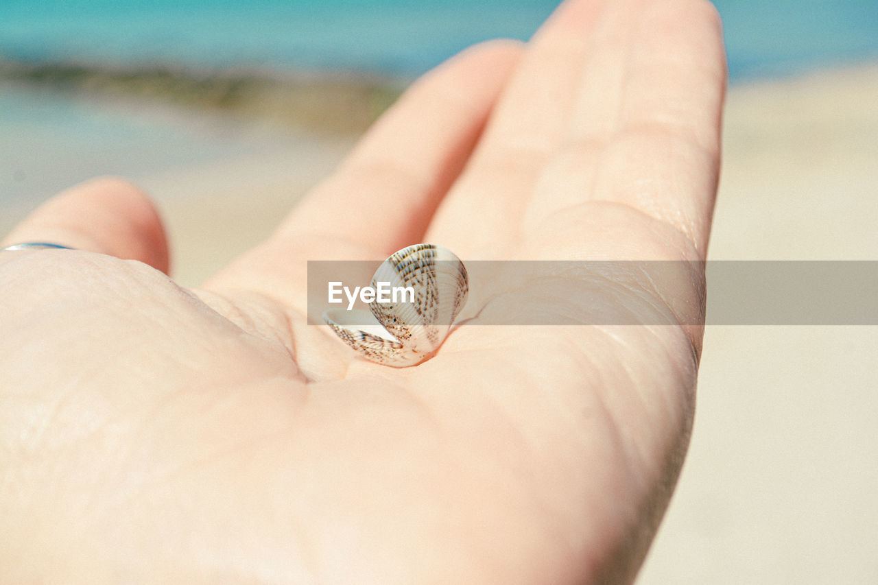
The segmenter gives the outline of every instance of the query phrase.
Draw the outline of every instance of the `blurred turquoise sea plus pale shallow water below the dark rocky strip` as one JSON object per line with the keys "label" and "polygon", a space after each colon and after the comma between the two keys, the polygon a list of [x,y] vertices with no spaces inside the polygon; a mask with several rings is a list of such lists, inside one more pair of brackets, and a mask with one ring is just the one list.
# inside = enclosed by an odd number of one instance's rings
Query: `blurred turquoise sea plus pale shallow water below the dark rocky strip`
{"label": "blurred turquoise sea plus pale shallow water below the dark rocky strip", "polygon": [[[479,40],[526,40],[556,4],[4,0],[0,69],[12,62],[52,64],[61,71],[158,66],[192,76],[218,70],[242,76],[355,70],[405,80]],[[732,83],[878,59],[878,0],[716,0],[716,5]],[[137,177],[277,148],[283,141],[276,135],[242,140],[233,131],[199,134],[173,116],[105,107],[82,91],[13,83],[3,76],[0,136],[0,210],[98,173]]]}

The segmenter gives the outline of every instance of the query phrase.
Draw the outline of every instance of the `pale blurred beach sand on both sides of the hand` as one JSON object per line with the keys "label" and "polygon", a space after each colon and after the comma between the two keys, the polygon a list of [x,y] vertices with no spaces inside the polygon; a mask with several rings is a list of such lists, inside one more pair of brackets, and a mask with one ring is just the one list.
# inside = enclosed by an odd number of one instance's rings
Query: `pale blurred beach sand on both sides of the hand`
{"label": "pale blurred beach sand on both sides of the hand", "polygon": [[[710,258],[878,259],[876,103],[878,66],[733,87]],[[354,141],[133,177],[178,280],[267,235]],[[638,582],[878,582],[876,354],[874,327],[709,327],[688,459]]]}

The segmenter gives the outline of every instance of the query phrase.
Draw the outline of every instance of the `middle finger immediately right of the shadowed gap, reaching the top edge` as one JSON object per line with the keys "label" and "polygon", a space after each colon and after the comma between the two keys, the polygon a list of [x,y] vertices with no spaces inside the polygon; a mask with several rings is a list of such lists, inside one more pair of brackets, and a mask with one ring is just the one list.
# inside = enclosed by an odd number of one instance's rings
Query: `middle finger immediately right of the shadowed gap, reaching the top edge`
{"label": "middle finger immediately right of the shadowed gap, reaching the top edge", "polygon": [[518,239],[530,191],[565,140],[583,64],[615,3],[567,0],[536,32],[479,149],[443,201],[429,238],[450,237],[467,254]]}

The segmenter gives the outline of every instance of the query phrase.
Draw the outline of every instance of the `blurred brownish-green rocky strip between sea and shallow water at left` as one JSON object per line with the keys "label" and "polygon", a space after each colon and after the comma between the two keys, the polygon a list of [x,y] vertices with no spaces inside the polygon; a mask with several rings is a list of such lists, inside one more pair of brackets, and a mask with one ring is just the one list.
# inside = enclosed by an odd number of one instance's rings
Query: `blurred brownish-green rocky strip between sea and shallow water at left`
{"label": "blurred brownish-green rocky strip between sea and shallow water at left", "polygon": [[399,97],[409,80],[360,71],[111,66],[17,61],[0,55],[0,83],[232,113],[290,130],[359,134]]}

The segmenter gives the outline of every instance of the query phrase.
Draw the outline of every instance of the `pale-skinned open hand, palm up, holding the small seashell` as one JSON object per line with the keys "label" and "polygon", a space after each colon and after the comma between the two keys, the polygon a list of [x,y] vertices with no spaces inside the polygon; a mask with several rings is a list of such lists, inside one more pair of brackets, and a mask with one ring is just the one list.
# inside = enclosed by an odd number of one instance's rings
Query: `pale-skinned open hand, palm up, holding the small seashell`
{"label": "pale-skinned open hand, palm up, holding the small seashell", "polygon": [[632,580],[692,427],[701,273],[571,276],[594,294],[558,309],[685,326],[468,323],[392,369],[306,324],[306,261],[701,260],[724,63],[702,0],[566,2],[415,83],[195,290],[132,185],[40,207],[2,245],[76,250],[0,253],[0,581]]}

